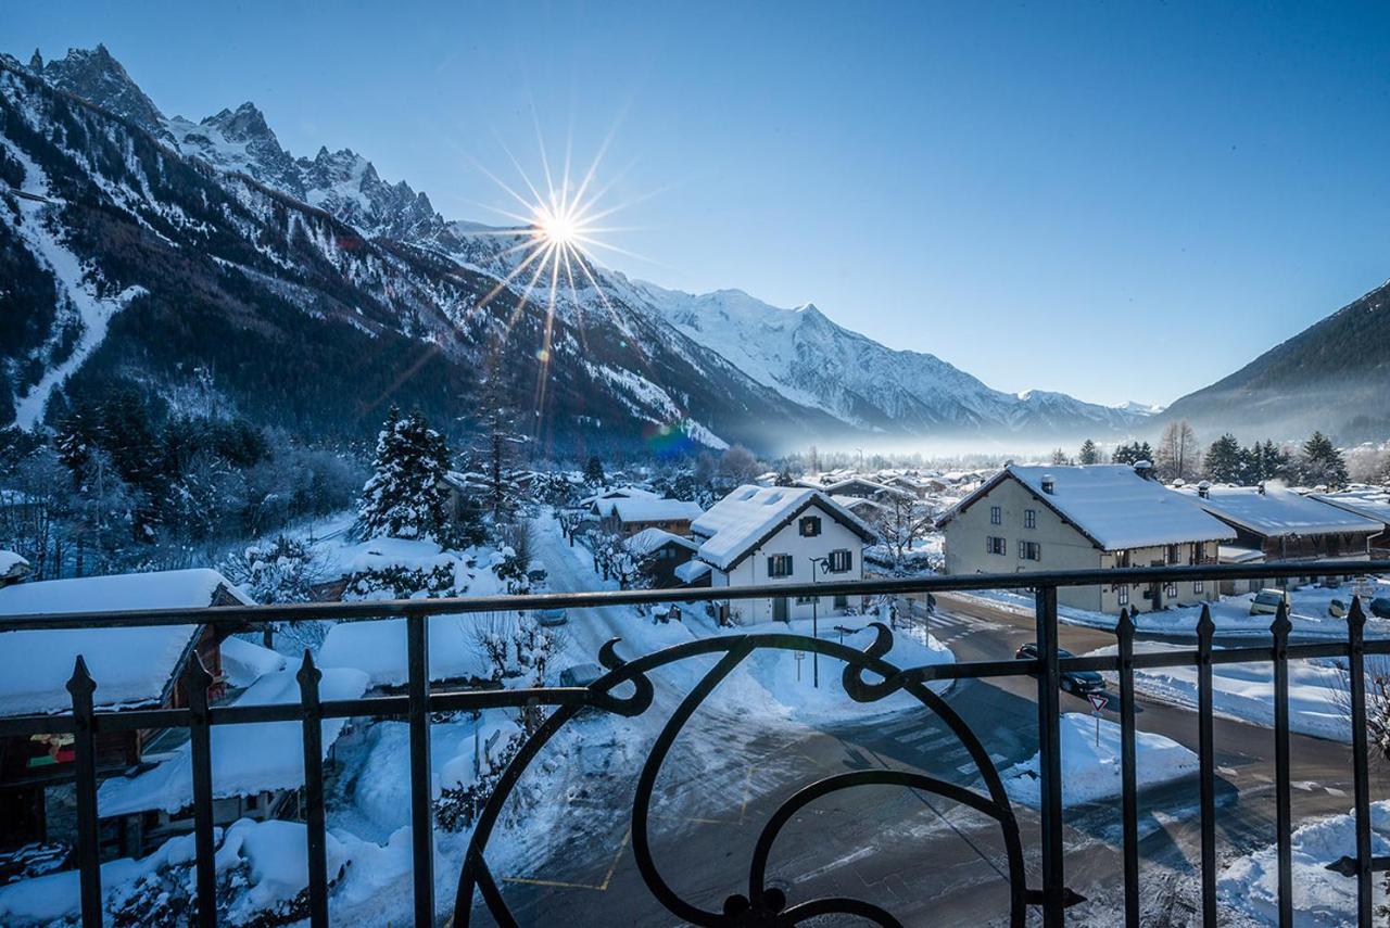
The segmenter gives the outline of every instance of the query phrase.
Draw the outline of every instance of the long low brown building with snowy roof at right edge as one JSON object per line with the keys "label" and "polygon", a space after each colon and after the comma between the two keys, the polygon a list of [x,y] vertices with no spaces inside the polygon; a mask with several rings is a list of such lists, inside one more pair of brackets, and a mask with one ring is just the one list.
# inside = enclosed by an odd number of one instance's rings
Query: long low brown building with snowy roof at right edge
{"label": "long low brown building with snowy roof at right edge", "polygon": [[1212,486],[1202,481],[1176,492],[1236,531],[1232,556],[1258,552],[1264,561],[1358,560],[1369,557],[1371,538],[1384,531],[1379,520],[1269,483]]}

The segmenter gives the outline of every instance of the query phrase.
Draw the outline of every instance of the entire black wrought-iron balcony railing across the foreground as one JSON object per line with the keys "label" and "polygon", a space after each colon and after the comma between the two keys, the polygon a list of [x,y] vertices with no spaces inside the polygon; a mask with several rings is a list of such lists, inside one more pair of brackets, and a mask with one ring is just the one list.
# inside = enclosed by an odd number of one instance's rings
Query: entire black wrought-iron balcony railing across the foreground
{"label": "entire black wrought-iron balcony railing across the foreground", "polygon": [[[1198,674],[1198,756],[1200,756],[1200,817],[1201,817],[1201,911],[1202,924],[1216,924],[1216,804],[1215,761],[1212,745],[1212,667],[1215,664],[1268,661],[1273,667],[1275,682],[1275,803],[1276,803],[1276,859],[1277,913],[1282,925],[1293,924],[1291,834],[1289,756],[1289,661],[1302,658],[1337,657],[1348,661],[1350,721],[1352,747],[1355,856],[1344,857],[1329,868],[1357,879],[1358,924],[1369,925],[1372,917],[1373,872],[1390,868],[1390,859],[1371,853],[1371,790],[1366,743],[1366,679],[1364,658],[1368,654],[1390,654],[1390,639],[1365,640],[1365,614],[1361,603],[1352,600],[1347,614],[1344,640],[1290,643],[1291,624],[1282,604],[1275,615],[1269,643],[1238,647],[1213,647],[1215,625],[1209,610],[1202,608],[1197,627],[1197,646],[1184,650],[1134,653],[1134,622],[1123,613],[1116,624],[1115,656],[1066,657],[1058,654],[1058,589],[1113,583],[1162,583],[1182,581],[1229,581],[1257,578],[1284,578],[1308,575],[1357,577],[1390,572],[1384,561],[1358,561],[1309,565],[1308,563],[1262,565],[1193,565],[1123,568],[1093,571],[1054,571],[1034,574],[927,577],[915,579],[876,579],[856,582],[826,582],[777,586],[738,586],[699,590],[626,590],[548,593],[537,596],[481,596],[461,599],[392,600],[364,603],[310,603],[260,607],[179,608],[135,613],[18,615],[0,618],[0,632],[53,628],[120,628],[152,625],[211,625],[225,631],[245,631],[264,622],[335,620],[364,621],[403,617],[407,636],[407,688],[403,696],[364,696],[360,699],[321,700],[321,674],[313,657],[306,653],[297,674],[299,704],[268,706],[208,706],[207,688],[211,678],[196,656],[189,661],[182,679],[186,695],[181,709],[139,709],[125,711],[97,711],[93,695],[100,681],[93,681],[85,661],[78,657],[68,690],[72,711],[61,715],[26,715],[0,718],[0,738],[22,735],[71,735],[74,739],[74,774],[76,779],[78,842],[76,863],[81,870],[81,913],[83,925],[100,925],[103,920],[101,874],[97,836],[97,764],[95,739],[99,734],[132,729],[188,728],[190,732],[190,761],[193,765],[193,810],[196,847],[195,918],[200,925],[213,925],[215,910],[211,738],[214,725],[252,722],[299,721],[304,746],[304,802],[303,815],[309,854],[309,921],[328,924],[329,881],[327,872],[325,810],[322,784],[322,735],[325,718],[348,717],[404,717],[410,727],[410,788],[414,865],[414,921],[432,925],[438,910],[434,875],[434,810],[430,781],[430,714],[439,711],[482,710],[496,707],[548,706],[552,713],[525,740],[509,763],[496,789],[480,813],[459,874],[459,890],[453,906],[453,921],[467,925],[475,893],[500,924],[516,924],[498,884],[488,870],[485,852],[492,828],[498,821],[518,778],[541,747],[566,722],[585,709],[635,717],[646,711],[653,699],[651,671],[688,657],[720,656],[714,667],[685,696],[644,764],[632,807],[632,847],[638,870],[656,899],[676,917],[703,925],[796,924],[826,913],[858,914],[869,921],[895,925],[891,913],[872,900],[823,897],[788,904],[785,895],[764,885],[767,857],[780,828],[792,813],[815,799],[865,784],[892,784],[937,793],[970,806],[992,818],[1002,834],[1011,885],[1009,921],[1024,924],[1029,909],[1041,913],[1045,925],[1061,925],[1068,906],[1081,897],[1066,886],[1062,845],[1062,779],[1061,779],[1061,721],[1059,683],[1069,671],[1109,671],[1118,674],[1120,697],[1120,764],[1122,764],[1122,843],[1123,843],[1123,911],[1127,925],[1140,924],[1138,875],[1138,797],[1136,778],[1136,722],[1134,671],[1159,667],[1195,667]],[[892,632],[877,625],[876,640],[865,650],[790,633],[721,635],[677,645],[653,654],[623,660],[617,654],[617,640],[600,649],[599,663],[606,674],[589,686],[548,686],[505,690],[449,690],[431,688],[427,625],[434,615],[482,614],[500,611],[530,611],[538,608],[585,608],[626,604],[655,604],[671,602],[727,602],[766,599],[769,596],[884,596],[912,593],[944,593],[952,590],[1027,589],[1036,602],[1037,658],[987,660],[923,667],[897,667],[887,660]],[[940,717],[960,739],[973,759],[984,790],[967,789],[924,774],[892,770],[856,771],[821,779],[795,793],[771,817],[759,835],[749,874],[748,893],[731,893],[721,911],[701,909],[682,899],[662,878],[651,852],[648,834],[648,806],[662,761],[681,727],[689,720],[717,683],[752,653],[763,649],[809,652],[844,661],[844,686],[848,696],[860,703],[873,703],[899,690],[916,697]],[[1023,867],[1019,827],[998,771],[974,732],[962,721],[947,700],[927,688],[931,681],[977,679],[1034,675],[1037,678],[1040,795],[1041,795],[1041,886],[1029,888]],[[619,697],[616,690],[630,692]]]}

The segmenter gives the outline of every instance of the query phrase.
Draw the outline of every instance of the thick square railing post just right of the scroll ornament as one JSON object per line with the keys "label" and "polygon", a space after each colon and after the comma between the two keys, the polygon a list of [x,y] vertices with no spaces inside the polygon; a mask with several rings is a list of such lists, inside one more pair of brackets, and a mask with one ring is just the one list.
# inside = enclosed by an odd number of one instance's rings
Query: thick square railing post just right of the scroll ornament
{"label": "thick square railing post just right of the scroll ornament", "polygon": [[1042,924],[1063,922],[1061,672],[1056,665],[1056,588],[1036,596],[1038,660],[1038,774],[1042,799]]}

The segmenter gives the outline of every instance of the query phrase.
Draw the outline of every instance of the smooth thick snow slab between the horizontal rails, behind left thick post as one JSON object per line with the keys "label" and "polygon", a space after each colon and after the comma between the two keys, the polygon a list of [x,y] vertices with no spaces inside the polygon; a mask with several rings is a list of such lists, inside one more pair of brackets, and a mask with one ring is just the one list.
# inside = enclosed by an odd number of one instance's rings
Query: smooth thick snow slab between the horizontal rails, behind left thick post
{"label": "smooth thick snow slab between the horizontal rails, behind left thick post", "polygon": [[[473,615],[435,615],[430,627],[430,679],[488,679],[492,665],[478,643]],[[328,629],[318,652],[322,667],[354,667],[373,686],[399,686],[407,679],[406,620],[341,622]]]}

